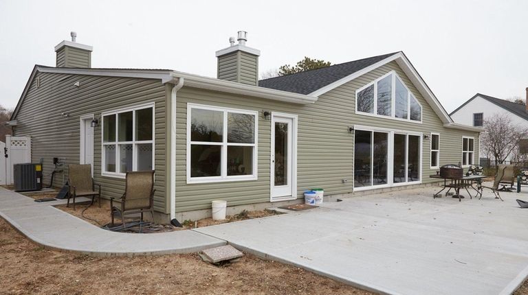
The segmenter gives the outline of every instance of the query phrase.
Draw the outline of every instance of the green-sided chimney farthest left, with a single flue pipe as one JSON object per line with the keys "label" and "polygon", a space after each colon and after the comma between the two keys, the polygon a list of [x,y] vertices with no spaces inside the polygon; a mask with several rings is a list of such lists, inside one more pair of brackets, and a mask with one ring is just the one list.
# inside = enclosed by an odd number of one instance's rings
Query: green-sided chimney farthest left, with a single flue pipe
{"label": "green-sided chimney farthest left, with a single flue pipe", "polygon": [[89,68],[91,67],[92,47],[76,43],[77,33],[71,32],[72,41],[64,40],[55,47],[57,53],[56,67]]}

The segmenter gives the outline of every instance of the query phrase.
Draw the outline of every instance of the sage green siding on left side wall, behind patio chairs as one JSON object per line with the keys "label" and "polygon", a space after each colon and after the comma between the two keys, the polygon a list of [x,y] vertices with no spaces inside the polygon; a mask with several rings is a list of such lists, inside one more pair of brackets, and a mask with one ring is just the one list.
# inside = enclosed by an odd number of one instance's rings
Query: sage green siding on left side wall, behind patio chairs
{"label": "sage green siding on left side wall, behind patio chairs", "polygon": [[[65,173],[58,173],[54,187],[67,180],[67,165],[79,163],[80,116],[155,102],[155,209],[164,213],[165,193],[165,87],[159,80],[88,75],[37,73],[41,86],[32,82],[19,107],[16,136],[32,137],[32,161],[43,160],[43,183],[50,183],[54,157],[65,158]],[[80,87],[74,83],[80,82]],[[65,115],[62,115],[62,114]],[[94,130],[94,178],[104,198],[120,198],[124,179],[101,176],[101,125]]]}

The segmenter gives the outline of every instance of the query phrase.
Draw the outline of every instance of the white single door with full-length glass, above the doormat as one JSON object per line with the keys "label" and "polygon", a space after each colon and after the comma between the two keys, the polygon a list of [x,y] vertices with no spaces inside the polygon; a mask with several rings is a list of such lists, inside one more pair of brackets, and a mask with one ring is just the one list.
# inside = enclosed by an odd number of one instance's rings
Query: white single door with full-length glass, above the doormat
{"label": "white single door with full-length glass, above the doormat", "polygon": [[297,118],[272,114],[271,201],[296,198]]}

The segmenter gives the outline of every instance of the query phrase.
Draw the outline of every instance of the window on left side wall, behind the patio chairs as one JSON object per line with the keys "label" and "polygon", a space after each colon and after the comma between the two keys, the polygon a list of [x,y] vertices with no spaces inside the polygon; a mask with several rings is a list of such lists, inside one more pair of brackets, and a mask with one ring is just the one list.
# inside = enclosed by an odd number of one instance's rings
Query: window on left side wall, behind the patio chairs
{"label": "window on left side wall, behind the patio chairs", "polygon": [[154,169],[154,106],[102,114],[102,174]]}

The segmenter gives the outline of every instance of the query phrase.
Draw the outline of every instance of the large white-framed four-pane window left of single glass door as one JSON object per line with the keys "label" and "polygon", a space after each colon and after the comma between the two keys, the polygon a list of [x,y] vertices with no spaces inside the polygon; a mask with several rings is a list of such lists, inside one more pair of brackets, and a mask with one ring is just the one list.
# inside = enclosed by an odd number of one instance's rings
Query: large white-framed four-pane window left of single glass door
{"label": "large white-framed four-pane window left of single glass door", "polygon": [[188,104],[187,180],[256,179],[258,113]]}

